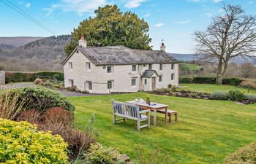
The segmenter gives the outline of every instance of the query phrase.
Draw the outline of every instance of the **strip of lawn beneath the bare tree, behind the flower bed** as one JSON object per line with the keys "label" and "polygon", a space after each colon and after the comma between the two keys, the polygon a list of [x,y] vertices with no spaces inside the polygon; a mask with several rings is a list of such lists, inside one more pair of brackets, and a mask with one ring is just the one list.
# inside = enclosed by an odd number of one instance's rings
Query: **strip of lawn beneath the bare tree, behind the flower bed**
{"label": "strip of lawn beneath the bare tree, behind the flower bed", "polygon": [[256,90],[247,90],[241,87],[236,87],[233,85],[208,85],[208,84],[179,84],[181,86],[178,90],[192,90],[197,92],[213,93],[214,91],[228,92],[230,90],[240,90],[241,92],[246,92],[246,94],[256,94]]}

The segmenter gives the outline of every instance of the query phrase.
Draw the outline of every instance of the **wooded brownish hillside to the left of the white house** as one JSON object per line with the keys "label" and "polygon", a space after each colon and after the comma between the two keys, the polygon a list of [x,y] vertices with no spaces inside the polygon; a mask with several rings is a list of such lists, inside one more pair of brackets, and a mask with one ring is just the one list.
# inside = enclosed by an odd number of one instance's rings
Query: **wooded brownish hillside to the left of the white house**
{"label": "wooded brownish hillside to the left of the white house", "polygon": [[0,69],[10,71],[62,71],[64,46],[72,36],[50,36],[10,50],[0,50]]}

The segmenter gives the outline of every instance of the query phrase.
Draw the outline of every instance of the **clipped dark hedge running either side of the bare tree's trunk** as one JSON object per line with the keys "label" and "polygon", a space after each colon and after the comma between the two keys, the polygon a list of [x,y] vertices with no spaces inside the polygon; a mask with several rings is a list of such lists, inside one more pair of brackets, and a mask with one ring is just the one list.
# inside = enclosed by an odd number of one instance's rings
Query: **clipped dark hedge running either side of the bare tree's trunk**
{"label": "clipped dark hedge running either side of the bare tree's trunk", "polygon": [[[238,78],[225,78],[222,81],[223,85],[239,85],[243,80]],[[215,84],[216,77],[181,77],[181,83],[198,83],[198,84]]]}

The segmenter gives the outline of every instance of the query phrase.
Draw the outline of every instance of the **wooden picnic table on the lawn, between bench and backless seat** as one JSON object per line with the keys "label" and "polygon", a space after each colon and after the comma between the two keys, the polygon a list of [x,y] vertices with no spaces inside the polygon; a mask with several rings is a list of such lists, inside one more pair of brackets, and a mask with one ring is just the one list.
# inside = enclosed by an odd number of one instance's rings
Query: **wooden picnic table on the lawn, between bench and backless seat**
{"label": "wooden picnic table on the lawn, between bench and backless seat", "polygon": [[138,101],[127,101],[127,103],[130,104],[138,104],[138,106],[141,107],[141,109],[150,109],[154,112],[154,127],[157,125],[157,110],[165,109],[165,125],[167,125],[167,108],[168,105],[165,104],[155,104],[155,105],[148,105],[146,103],[140,103]]}

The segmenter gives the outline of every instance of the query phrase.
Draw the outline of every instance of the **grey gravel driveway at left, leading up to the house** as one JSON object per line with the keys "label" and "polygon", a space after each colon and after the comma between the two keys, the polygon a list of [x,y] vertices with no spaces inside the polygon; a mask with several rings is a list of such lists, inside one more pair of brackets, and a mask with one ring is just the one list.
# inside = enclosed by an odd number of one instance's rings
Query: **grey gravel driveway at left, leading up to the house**
{"label": "grey gravel driveway at left, leading up to the house", "polygon": [[[13,83],[12,85],[0,85],[0,90],[2,89],[12,89],[12,88],[18,88],[18,87],[36,87],[34,83],[32,82],[18,82]],[[53,90],[53,89],[49,89]],[[61,93],[62,95],[66,96],[91,96],[91,95],[98,95],[98,94],[83,94],[83,93],[75,93],[67,90],[57,90],[54,89],[56,92]]]}

